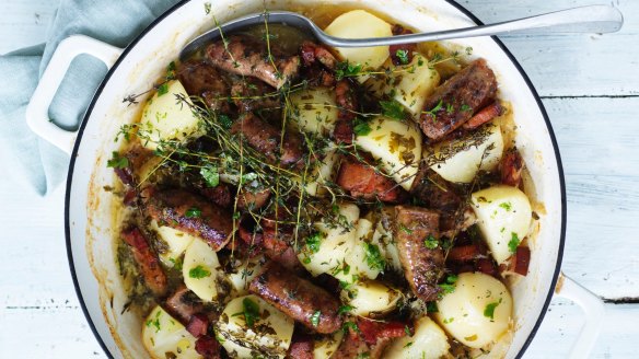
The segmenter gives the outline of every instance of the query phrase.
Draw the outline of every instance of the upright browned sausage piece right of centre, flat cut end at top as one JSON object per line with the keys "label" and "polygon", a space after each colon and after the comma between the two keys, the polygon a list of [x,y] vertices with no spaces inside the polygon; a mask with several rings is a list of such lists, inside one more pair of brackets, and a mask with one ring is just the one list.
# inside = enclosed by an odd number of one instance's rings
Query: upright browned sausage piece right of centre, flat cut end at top
{"label": "upright browned sausage piece right of centre, flat cut end at top", "polygon": [[395,207],[395,241],[404,276],[413,292],[430,302],[439,293],[438,280],[444,269],[444,253],[441,245],[426,246],[425,240],[440,239],[440,215],[435,211],[408,206]]}

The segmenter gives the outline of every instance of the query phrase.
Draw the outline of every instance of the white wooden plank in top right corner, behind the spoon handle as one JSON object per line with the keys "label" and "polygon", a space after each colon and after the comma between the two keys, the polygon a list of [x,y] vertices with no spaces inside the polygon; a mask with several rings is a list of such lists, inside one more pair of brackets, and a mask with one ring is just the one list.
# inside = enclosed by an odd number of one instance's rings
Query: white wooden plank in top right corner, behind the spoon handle
{"label": "white wooden plank in top right corner, behind the spoon handle", "polygon": [[[486,23],[560,9],[606,3],[597,0],[486,0],[461,4]],[[639,1],[617,0],[625,14],[619,33],[606,35],[501,36],[543,96],[639,94]]]}

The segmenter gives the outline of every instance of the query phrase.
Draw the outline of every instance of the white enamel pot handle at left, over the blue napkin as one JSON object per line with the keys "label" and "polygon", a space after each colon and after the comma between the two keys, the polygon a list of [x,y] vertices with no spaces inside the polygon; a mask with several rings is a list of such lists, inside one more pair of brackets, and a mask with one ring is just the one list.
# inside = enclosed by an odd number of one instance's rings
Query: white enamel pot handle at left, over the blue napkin
{"label": "white enamel pot handle at left, over the blue napkin", "polygon": [[78,131],[65,130],[49,119],[49,106],[71,61],[82,54],[94,56],[111,68],[123,49],[84,35],[69,36],[56,48],[26,107],[26,124],[39,137],[71,154]]}

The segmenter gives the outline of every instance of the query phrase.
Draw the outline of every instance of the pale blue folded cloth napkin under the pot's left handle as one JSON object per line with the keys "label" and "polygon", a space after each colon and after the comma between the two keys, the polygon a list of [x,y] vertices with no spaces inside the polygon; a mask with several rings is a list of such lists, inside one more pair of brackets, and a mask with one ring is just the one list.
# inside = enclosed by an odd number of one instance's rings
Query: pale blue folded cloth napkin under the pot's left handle
{"label": "pale blue folded cloth napkin under the pot's left handle", "polygon": [[[45,195],[66,176],[69,157],[35,136],[25,109],[38,79],[60,40],[88,35],[118,47],[127,46],[155,18],[178,0],[61,0],[47,31],[47,43],[0,56],[0,161],[18,184]],[[106,74],[100,60],[78,57],[69,68],[49,118],[60,127],[79,121]]]}

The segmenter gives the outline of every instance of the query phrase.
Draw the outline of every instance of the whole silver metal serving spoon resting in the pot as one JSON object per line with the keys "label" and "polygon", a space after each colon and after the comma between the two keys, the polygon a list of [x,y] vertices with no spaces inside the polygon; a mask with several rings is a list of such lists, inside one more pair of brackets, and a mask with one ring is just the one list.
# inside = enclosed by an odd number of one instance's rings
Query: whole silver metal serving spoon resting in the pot
{"label": "whole silver metal serving spoon resting in the pot", "polygon": [[496,24],[432,33],[418,33],[392,37],[341,38],[327,35],[309,18],[299,13],[290,11],[267,11],[232,20],[201,34],[184,47],[179,53],[179,59],[186,59],[190,54],[195,53],[205,44],[220,37],[220,32],[231,33],[246,26],[264,24],[265,21],[268,23],[286,24],[300,30],[311,31],[320,42],[333,47],[370,47],[509,34],[524,30],[538,28],[544,28],[548,32],[553,31],[555,33],[614,33],[621,28],[624,16],[621,15],[621,12],[614,7],[589,5]]}

